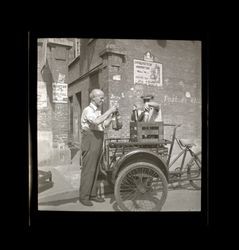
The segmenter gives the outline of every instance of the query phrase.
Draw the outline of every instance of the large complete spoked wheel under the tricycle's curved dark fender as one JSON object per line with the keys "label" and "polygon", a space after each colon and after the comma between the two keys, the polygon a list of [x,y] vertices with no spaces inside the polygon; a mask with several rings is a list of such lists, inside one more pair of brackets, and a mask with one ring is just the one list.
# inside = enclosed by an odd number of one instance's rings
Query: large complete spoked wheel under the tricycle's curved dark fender
{"label": "large complete spoked wheel under the tricycle's curved dark fender", "polygon": [[128,165],[115,182],[115,199],[123,211],[160,211],[167,193],[164,173],[148,162]]}

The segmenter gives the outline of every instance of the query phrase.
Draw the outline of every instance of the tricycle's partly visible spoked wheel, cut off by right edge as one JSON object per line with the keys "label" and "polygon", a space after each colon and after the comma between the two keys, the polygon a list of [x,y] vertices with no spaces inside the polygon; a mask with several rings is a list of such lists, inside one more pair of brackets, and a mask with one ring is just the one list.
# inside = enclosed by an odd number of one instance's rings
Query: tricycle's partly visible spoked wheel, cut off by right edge
{"label": "tricycle's partly visible spoked wheel, cut off by right edge", "polygon": [[198,152],[187,164],[187,175],[195,189],[201,189],[201,152]]}

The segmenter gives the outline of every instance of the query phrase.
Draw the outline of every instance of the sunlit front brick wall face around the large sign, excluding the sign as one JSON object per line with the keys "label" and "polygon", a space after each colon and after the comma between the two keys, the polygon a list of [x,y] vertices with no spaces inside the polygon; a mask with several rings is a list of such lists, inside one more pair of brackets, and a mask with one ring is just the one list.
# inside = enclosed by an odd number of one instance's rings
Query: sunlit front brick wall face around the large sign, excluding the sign
{"label": "sunlit front brick wall face around the large sign, excluding the sign", "polygon": [[[125,63],[121,64],[117,72],[115,67],[109,70],[109,96],[119,101],[124,129],[119,132],[109,131],[109,135],[128,135],[133,104],[142,104],[141,95],[153,94],[154,100],[162,104],[164,121],[182,123],[178,135],[198,140],[201,137],[200,43],[167,41],[166,46],[162,47],[152,40],[116,40],[116,44],[124,48],[127,54]],[[148,50],[155,56],[155,61],[163,65],[162,87],[135,85],[133,82],[133,59],[143,60]],[[121,80],[112,80],[114,74],[120,74]],[[186,97],[186,92],[191,97]],[[166,130],[166,134],[170,133]]]}

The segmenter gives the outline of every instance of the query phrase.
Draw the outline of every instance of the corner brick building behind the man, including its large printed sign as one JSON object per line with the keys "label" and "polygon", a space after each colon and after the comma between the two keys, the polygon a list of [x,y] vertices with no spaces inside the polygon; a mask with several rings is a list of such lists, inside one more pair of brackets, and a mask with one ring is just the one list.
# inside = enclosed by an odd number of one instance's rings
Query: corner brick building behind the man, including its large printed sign
{"label": "corner brick building behind the man, including its large printed sign", "polygon": [[[80,117],[89,92],[105,92],[105,112],[119,103],[123,128],[108,137],[129,137],[133,105],[154,95],[165,123],[182,124],[180,138],[201,144],[201,42],[183,40],[81,39],[80,56],[69,65],[70,135],[80,143]],[[165,137],[171,131],[165,130]]]}

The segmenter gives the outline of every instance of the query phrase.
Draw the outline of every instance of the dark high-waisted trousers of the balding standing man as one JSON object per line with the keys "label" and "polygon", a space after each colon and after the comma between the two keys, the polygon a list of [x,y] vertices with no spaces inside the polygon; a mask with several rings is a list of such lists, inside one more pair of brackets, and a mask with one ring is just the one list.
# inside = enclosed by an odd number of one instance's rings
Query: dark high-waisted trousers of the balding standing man
{"label": "dark high-waisted trousers of the balding standing man", "polygon": [[98,162],[103,146],[103,131],[82,132],[82,169],[80,180],[80,199],[97,195]]}

